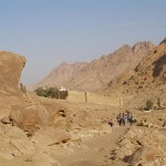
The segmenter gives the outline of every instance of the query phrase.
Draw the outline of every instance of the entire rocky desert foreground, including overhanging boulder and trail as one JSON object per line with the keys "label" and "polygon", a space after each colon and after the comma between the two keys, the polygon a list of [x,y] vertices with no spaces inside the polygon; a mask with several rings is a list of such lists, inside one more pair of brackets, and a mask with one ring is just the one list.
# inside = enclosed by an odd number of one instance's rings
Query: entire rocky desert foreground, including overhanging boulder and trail
{"label": "entire rocky desert foreground, including overhanging boulder and trail", "polygon": [[132,108],[136,124],[120,127],[122,107],[24,94],[24,65],[0,52],[0,166],[166,166],[165,110]]}

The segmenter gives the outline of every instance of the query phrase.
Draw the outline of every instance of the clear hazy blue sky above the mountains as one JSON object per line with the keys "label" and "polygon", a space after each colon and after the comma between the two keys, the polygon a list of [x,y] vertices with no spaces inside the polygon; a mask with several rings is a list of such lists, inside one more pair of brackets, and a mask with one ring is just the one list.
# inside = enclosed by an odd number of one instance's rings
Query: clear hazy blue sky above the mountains
{"label": "clear hazy blue sky above the mountains", "polygon": [[0,50],[25,56],[20,82],[166,37],[166,0],[0,0]]}

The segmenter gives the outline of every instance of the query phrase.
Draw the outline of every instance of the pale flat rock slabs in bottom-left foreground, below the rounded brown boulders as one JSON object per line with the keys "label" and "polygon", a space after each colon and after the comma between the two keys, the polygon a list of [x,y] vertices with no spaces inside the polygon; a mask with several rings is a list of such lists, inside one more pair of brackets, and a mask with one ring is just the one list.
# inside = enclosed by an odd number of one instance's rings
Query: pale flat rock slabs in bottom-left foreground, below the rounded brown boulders
{"label": "pale flat rock slabs in bottom-left foreground, below the rounded brown boulders", "polygon": [[71,138],[65,131],[52,127],[38,131],[32,137],[15,126],[0,124],[0,164],[24,166],[61,166],[51,157],[49,146]]}

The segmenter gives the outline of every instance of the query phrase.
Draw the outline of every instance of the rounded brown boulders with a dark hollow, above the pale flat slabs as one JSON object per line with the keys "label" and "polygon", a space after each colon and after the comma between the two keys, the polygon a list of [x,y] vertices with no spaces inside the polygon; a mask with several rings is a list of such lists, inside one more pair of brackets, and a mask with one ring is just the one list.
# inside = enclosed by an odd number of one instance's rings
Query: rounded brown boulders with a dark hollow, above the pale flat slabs
{"label": "rounded brown boulders with a dark hollow, above the pale flat slabs", "polygon": [[10,120],[12,125],[33,135],[34,132],[45,126],[70,128],[69,116],[68,108],[60,103],[37,103],[12,110],[9,118],[2,118],[2,122],[8,124]]}

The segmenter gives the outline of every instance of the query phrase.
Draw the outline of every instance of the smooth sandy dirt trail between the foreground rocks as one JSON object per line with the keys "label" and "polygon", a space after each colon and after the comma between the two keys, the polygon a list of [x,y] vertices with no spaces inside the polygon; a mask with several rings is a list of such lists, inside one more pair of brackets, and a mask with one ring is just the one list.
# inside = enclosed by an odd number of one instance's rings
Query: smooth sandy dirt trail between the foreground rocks
{"label": "smooth sandy dirt trail between the foreground rocks", "polygon": [[110,154],[126,129],[127,127],[124,126],[114,127],[112,133],[83,141],[80,147],[74,147],[71,153],[63,153],[62,156],[59,156],[58,160],[63,166],[125,166],[124,163],[111,160]]}

